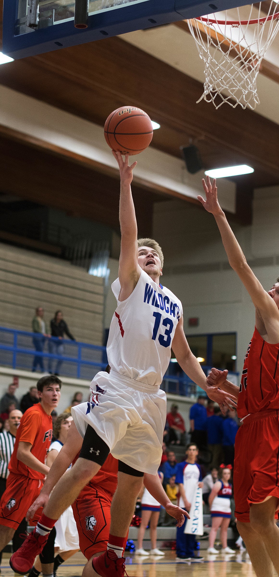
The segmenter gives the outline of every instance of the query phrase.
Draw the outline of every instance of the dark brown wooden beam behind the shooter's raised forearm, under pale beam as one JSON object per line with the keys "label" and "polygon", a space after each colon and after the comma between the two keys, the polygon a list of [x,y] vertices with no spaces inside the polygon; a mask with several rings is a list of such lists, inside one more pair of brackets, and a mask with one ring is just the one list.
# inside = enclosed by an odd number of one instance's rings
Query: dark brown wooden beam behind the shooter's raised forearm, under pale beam
{"label": "dark brown wooden beam behind the shooter's raised forearm, under pale beam", "polygon": [[[23,143],[10,134],[0,134],[0,162],[2,192],[101,222],[119,233],[119,175],[101,174],[92,166]],[[153,204],[165,196],[134,183],[133,198],[139,235],[150,237]]]}

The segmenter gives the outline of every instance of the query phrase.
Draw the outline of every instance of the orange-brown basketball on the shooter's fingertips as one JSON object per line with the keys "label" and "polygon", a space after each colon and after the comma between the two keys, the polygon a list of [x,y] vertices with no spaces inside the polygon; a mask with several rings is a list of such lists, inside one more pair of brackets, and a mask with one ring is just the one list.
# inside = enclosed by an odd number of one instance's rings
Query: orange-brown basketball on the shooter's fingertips
{"label": "orange-brown basketball on the shooter's fingertips", "polygon": [[112,150],[119,150],[121,154],[139,154],[152,141],[152,122],[141,108],[122,106],[105,121],[104,135]]}

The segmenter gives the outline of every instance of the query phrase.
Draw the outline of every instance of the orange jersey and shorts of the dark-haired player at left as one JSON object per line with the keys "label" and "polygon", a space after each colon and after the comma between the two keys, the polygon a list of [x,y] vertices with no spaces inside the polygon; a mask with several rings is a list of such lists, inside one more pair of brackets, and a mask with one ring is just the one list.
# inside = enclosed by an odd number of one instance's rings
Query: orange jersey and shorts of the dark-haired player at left
{"label": "orange jersey and shorts of the dark-haired player at left", "polygon": [[52,437],[52,419],[37,403],[25,411],[16,434],[9,463],[6,490],[0,501],[0,524],[17,529],[42,489],[44,474],[30,469],[17,459],[18,443],[31,443],[31,453],[41,463],[46,459]]}

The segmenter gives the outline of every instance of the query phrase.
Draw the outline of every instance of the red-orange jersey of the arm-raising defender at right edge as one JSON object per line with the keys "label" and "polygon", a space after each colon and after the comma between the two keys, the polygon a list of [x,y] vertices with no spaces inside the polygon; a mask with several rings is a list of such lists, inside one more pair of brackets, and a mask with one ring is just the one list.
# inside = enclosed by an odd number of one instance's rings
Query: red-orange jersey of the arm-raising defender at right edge
{"label": "red-orange jersey of the arm-raising defender at right edge", "polygon": [[257,328],[244,358],[237,415],[279,409],[279,344],[269,344]]}

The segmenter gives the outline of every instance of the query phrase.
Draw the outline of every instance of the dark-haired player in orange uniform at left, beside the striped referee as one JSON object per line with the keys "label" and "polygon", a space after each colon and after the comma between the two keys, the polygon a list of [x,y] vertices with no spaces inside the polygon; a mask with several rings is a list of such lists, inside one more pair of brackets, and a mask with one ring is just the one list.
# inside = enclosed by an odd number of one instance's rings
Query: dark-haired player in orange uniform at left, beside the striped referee
{"label": "dark-haired player in orange uniform at left, beside the striped referee", "polygon": [[25,518],[49,471],[44,462],[52,437],[51,411],[58,405],[60,388],[58,377],[42,377],[37,382],[40,402],[27,409],[21,418],[6,490],[0,501],[0,550]]}

